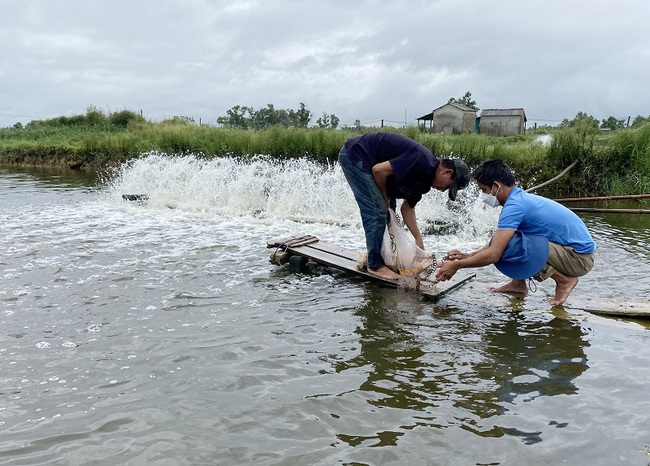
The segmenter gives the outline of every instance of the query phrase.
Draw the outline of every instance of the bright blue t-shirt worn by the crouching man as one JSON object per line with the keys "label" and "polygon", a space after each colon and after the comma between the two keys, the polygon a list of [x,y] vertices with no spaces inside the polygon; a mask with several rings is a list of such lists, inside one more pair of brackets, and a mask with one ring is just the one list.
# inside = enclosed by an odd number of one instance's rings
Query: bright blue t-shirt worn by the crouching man
{"label": "bright blue t-shirt worn by the crouching man", "polygon": [[596,243],[580,217],[551,199],[519,187],[510,192],[497,228],[546,236],[552,243],[570,246],[579,254],[596,251]]}

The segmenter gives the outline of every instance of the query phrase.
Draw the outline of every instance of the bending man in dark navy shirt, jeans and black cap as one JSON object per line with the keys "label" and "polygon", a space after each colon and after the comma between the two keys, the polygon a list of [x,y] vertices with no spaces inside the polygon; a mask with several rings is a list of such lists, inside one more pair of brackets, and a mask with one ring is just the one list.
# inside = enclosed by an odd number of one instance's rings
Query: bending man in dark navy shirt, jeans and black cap
{"label": "bending man in dark navy shirt, jeans and black cap", "polygon": [[415,205],[431,188],[449,190],[453,201],[469,183],[469,169],[460,160],[439,159],[422,144],[394,133],[371,133],[348,139],[339,153],[339,163],[361,211],[366,234],[368,272],[397,280],[381,256],[388,207],[404,199],[402,218],[424,249],[415,218]]}

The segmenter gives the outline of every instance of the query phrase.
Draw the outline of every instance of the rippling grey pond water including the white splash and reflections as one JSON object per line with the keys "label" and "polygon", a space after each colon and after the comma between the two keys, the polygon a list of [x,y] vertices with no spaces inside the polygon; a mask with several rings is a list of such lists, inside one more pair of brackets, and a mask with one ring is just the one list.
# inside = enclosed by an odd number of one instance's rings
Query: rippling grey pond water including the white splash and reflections
{"label": "rippling grey pond water including the white splash and reflections", "polygon": [[[456,226],[438,255],[498,216],[473,189],[417,211]],[[650,301],[650,216],[581,216],[567,307],[489,292],[492,266],[434,303],[269,263],[297,234],[363,250],[338,166],[0,169],[0,463],[646,465],[650,324],[584,309]]]}

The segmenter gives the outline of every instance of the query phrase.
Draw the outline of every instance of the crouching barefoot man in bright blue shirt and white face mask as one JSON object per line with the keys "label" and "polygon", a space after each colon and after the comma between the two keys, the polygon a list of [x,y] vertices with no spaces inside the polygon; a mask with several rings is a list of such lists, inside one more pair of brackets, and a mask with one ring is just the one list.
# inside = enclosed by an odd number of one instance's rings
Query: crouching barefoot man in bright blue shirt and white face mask
{"label": "crouching barefoot man in bright blue shirt and white face mask", "polygon": [[562,305],[578,284],[578,277],[594,266],[596,244],[587,226],[563,205],[515,186],[510,168],[501,160],[487,160],[472,178],[483,201],[503,206],[497,231],[489,244],[462,253],[450,251],[436,279],[448,280],[458,269],[494,264],[512,281],[491,291],[526,294],[526,279],[555,281],[553,305]]}

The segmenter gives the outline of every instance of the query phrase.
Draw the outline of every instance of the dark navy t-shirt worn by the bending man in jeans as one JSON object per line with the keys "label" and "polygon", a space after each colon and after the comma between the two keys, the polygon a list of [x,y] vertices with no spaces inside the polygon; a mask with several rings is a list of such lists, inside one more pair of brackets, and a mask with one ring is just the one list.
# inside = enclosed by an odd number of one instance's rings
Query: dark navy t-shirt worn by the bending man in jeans
{"label": "dark navy t-shirt worn by the bending man in jeans", "polygon": [[345,150],[352,163],[361,161],[368,172],[372,172],[373,165],[390,161],[393,176],[386,183],[388,197],[406,199],[411,207],[431,190],[440,163],[422,144],[394,133],[370,133],[348,139]]}

